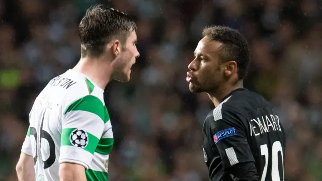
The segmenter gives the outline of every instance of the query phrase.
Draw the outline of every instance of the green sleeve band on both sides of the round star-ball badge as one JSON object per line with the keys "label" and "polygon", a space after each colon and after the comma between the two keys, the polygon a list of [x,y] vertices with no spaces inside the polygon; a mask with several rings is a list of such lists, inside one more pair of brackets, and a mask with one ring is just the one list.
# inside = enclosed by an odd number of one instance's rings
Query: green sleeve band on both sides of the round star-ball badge
{"label": "green sleeve band on both sides of the round star-ball badge", "polygon": [[[61,132],[61,146],[73,146],[70,142],[70,134],[73,132],[76,128],[64,128]],[[97,147],[97,144],[99,142],[99,139],[92,135],[91,133],[87,132],[88,135],[88,145],[85,148],[82,148],[92,154],[94,154],[95,149]],[[81,149],[81,148],[80,148]]]}

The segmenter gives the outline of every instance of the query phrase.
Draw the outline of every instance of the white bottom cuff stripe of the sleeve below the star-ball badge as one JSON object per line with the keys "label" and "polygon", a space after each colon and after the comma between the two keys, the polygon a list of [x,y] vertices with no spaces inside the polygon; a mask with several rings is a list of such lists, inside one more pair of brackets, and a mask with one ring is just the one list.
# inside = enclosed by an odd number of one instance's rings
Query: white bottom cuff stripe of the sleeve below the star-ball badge
{"label": "white bottom cuff stripe of the sleeve below the star-ball badge", "polygon": [[72,163],[83,163],[87,169],[92,162],[93,155],[81,148],[76,148],[74,146],[61,146],[59,154],[60,162],[72,162]]}

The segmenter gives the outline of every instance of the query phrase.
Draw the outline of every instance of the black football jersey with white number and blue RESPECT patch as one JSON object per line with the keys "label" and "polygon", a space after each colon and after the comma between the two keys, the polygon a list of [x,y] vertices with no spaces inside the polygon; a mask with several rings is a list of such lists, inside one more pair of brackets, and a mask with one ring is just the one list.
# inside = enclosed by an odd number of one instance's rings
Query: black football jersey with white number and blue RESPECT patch
{"label": "black football jersey with white number and blue RESPECT patch", "polygon": [[246,88],[232,91],[207,115],[203,137],[211,181],[232,180],[227,168],[245,162],[255,163],[259,180],[284,180],[283,126],[259,94]]}

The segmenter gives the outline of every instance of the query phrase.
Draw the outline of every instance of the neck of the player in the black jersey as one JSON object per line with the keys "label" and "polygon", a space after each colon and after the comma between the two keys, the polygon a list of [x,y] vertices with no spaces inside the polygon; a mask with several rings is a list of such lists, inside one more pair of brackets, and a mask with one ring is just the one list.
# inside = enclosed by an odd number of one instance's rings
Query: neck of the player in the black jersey
{"label": "neck of the player in the black jersey", "polygon": [[217,107],[223,99],[232,91],[237,88],[243,88],[243,80],[239,80],[236,84],[230,86],[220,86],[220,88],[216,89],[214,92],[208,92],[208,96],[215,107]]}

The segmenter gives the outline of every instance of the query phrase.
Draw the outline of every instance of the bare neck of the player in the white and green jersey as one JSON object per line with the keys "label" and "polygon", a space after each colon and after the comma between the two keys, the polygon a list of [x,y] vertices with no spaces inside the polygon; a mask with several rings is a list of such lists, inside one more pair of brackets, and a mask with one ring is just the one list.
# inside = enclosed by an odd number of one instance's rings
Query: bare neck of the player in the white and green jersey
{"label": "bare neck of the player in the white and green jersey", "polygon": [[84,73],[103,90],[111,80],[112,67],[101,59],[81,58],[73,70]]}

